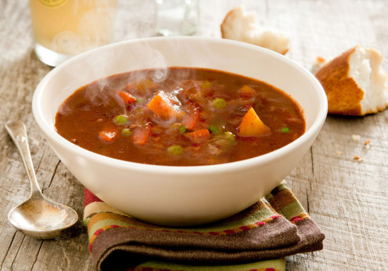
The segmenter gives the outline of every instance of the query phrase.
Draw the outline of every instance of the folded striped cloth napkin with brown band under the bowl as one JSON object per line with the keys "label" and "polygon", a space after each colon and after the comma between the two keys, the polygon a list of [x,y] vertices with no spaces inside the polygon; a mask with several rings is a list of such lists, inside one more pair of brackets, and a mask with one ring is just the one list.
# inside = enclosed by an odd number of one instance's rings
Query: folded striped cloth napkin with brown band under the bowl
{"label": "folded striped cloth napkin with brown band under the bowl", "polygon": [[85,188],[84,224],[96,270],[284,270],[285,256],[321,250],[325,238],[284,182],[246,210],[193,228],[137,220]]}

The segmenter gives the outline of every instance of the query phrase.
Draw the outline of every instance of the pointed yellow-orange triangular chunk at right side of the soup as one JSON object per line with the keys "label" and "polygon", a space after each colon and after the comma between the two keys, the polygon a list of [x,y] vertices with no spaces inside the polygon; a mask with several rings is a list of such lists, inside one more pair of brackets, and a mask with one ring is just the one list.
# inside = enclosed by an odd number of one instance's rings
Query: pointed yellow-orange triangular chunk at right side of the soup
{"label": "pointed yellow-orange triangular chunk at right side of the soup", "polygon": [[271,133],[268,128],[257,116],[255,110],[251,107],[245,114],[238,126],[238,133],[243,137],[256,137],[258,135],[265,135]]}

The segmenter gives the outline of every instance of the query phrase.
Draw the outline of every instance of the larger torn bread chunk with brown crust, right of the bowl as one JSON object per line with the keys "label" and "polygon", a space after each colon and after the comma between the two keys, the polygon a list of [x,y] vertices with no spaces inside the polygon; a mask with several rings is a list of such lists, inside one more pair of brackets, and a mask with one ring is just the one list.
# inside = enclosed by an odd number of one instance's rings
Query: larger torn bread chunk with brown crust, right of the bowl
{"label": "larger torn bread chunk with brown crust, right of the bowl", "polygon": [[388,106],[382,56],[356,46],[324,65],[316,74],[325,89],[329,114],[364,116]]}

